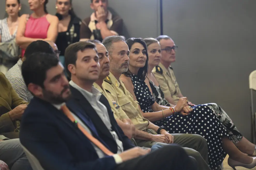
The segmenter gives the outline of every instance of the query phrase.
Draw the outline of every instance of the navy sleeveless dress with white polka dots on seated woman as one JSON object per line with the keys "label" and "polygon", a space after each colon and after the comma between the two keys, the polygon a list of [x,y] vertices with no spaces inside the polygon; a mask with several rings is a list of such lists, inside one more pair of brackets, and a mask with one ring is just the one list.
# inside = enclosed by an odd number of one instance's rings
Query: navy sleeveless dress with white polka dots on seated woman
{"label": "navy sleeveless dress with white polka dots on seated woman", "polygon": [[[153,112],[151,106],[155,101],[148,90],[147,84],[139,80],[135,75],[131,75],[131,79],[134,86],[134,93],[142,111],[144,113]],[[230,136],[207,105],[198,105],[192,108],[193,111],[188,116],[182,116],[177,113],[176,115],[157,121],[155,124],[164,126],[169,133],[199,134],[204,137],[208,145],[209,167],[211,169],[219,169],[227,155],[222,149],[221,138],[230,138]]]}

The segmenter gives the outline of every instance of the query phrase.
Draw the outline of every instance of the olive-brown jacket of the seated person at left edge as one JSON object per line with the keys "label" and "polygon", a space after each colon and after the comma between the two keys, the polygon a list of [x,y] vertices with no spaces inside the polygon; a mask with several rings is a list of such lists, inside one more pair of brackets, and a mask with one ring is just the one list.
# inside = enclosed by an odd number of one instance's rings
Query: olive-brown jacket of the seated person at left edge
{"label": "olive-brown jacket of the seated person at left edge", "polygon": [[[10,139],[19,138],[19,121],[12,121],[9,111],[21,104],[28,102],[19,97],[5,75],[0,72],[0,135]],[[1,138],[3,137],[0,136]]]}

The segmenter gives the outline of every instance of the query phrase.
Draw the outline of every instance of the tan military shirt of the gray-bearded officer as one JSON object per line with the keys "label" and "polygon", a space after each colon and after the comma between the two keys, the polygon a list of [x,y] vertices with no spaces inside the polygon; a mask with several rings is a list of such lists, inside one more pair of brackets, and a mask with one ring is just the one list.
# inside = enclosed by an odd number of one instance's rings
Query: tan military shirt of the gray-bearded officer
{"label": "tan military shirt of the gray-bearded officer", "polygon": [[115,76],[110,73],[109,76],[104,79],[102,87],[117,98],[119,106],[121,106],[124,113],[131,119],[136,129],[145,130],[148,128],[149,121],[143,118],[139,110],[138,102],[133,100],[132,95],[126,90],[124,83],[120,79],[118,81]]}

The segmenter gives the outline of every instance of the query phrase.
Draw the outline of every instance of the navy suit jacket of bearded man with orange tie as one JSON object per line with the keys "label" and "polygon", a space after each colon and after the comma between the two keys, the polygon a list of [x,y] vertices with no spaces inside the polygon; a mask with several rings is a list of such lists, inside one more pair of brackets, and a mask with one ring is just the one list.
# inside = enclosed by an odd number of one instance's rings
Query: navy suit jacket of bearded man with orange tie
{"label": "navy suit jacket of bearded man with orange tie", "polygon": [[[69,108],[84,121],[95,138],[103,141],[100,136],[102,135],[101,133],[106,132],[103,130],[107,129],[106,126],[102,125],[99,127],[98,125],[92,125],[92,121],[88,119],[88,116],[84,112],[85,109],[86,111],[90,111],[89,106],[87,106],[88,108],[80,107],[80,105],[86,106],[86,103],[83,104],[81,101],[78,103],[77,101],[78,99],[68,101]],[[112,124],[112,127],[115,127],[113,129],[117,130],[119,139],[126,141],[123,132],[118,130],[119,127],[116,127],[116,122]],[[95,129],[101,130],[95,131]],[[110,137],[106,134],[104,138],[107,139]],[[108,140],[111,141],[111,139]],[[110,143],[108,140],[102,143],[114,152],[114,144],[112,144],[113,146],[106,145],[106,143]],[[91,142],[69,118],[50,103],[36,97],[31,100],[31,103],[22,116],[20,141],[39,160],[42,167],[46,170],[112,170],[116,167],[115,160],[112,156],[99,159]],[[126,142],[124,142],[124,148],[127,149]]]}

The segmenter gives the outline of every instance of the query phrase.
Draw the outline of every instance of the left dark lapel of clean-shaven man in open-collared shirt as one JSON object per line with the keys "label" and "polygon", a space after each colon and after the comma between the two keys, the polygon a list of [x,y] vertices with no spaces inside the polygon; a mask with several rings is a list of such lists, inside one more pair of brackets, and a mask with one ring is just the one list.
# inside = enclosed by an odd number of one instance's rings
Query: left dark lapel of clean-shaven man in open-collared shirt
{"label": "left dark lapel of clean-shaven man in open-collared shirt", "polygon": [[115,141],[111,133],[109,132],[108,128],[101,120],[100,116],[96,113],[96,111],[93,109],[91,104],[86,100],[86,98],[74,87],[70,86],[70,90],[72,92],[73,97],[78,100],[79,105],[86,111],[84,113],[91,118],[96,129],[102,134],[112,139],[113,141]]}

